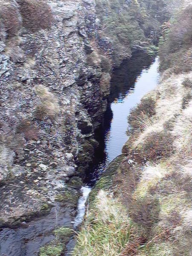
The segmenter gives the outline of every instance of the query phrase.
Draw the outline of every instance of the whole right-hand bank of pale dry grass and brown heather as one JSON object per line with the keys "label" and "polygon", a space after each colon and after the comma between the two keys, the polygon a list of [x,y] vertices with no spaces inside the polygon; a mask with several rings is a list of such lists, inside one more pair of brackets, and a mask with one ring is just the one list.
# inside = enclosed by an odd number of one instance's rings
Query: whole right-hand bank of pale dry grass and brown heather
{"label": "whole right-hand bank of pale dry grass and brown heather", "polygon": [[165,30],[160,84],[131,112],[113,188],[99,181],[74,256],[192,255],[191,17],[187,6]]}

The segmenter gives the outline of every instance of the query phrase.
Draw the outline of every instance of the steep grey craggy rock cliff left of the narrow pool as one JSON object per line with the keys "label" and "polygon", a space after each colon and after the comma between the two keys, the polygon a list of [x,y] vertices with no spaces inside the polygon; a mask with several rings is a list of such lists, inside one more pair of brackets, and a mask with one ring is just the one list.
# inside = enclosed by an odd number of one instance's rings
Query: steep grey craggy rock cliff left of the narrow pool
{"label": "steep grey craggy rock cliff left of the narrow pool", "polygon": [[77,194],[109,94],[96,22],[94,0],[0,1],[2,223]]}

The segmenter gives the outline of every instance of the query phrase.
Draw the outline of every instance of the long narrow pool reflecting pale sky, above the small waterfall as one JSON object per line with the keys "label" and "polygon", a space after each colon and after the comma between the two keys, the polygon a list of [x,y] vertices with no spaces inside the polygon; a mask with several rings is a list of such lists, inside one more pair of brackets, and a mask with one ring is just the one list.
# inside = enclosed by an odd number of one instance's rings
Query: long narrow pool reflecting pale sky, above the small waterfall
{"label": "long narrow pool reflecting pale sky, above the small waterfall", "polygon": [[150,90],[157,86],[158,58],[134,53],[114,70],[111,79],[111,96],[105,113],[103,125],[97,131],[99,148],[96,151],[92,171],[85,182],[93,185],[116,156],[121,154],[127,141],[127,116]]}

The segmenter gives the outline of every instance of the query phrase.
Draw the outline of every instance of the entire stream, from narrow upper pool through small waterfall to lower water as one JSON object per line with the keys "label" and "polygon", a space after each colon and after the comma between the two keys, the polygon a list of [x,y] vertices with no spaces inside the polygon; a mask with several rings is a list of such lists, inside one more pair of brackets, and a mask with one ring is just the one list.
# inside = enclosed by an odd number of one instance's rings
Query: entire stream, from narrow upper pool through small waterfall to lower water
{"label": "entire stream, from narrow upper pool through small waterfall to lower water", "polygon": [[[85,178],[82,187],[83,196],[79,198],[78,214],[71,219],[67,209],[55,206],[47,216],[37,218],[25,227],[0,230],[0,256],[38,256],[41,246],[54,239],[52,231],[57,226],[77,227],[85,212],[85,202],[91,187],[105,171],[108,163],[121,154],[122,146],[127,141],[127,116],[150,90],[157,86],[158,58],[148,59],[142,53],[135,53],[129,60],[123,61],[114,70],[111,79],[111,95],[103,125],[97,131],[99,148],[96,151],[93,166]],[[71,243],[71,244],[70,244]],[[69,250],[74,241],[69,243]],[[70,255],[70,253],[67,253]]]}

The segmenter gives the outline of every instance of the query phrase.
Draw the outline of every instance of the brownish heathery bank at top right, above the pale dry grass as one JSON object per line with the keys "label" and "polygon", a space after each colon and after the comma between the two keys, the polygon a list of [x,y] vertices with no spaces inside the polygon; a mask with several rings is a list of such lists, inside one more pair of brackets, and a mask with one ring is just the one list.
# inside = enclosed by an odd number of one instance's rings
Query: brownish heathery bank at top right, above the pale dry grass
{"label": "brownish heathery bank at top right, above the pale dry grass", "polygon": [[[183,1],[183,4],[186,1]],[[192,6],[177,12],[172,22],[164,23],[160,39],[161,70],[174,73],[192,70]]]}

